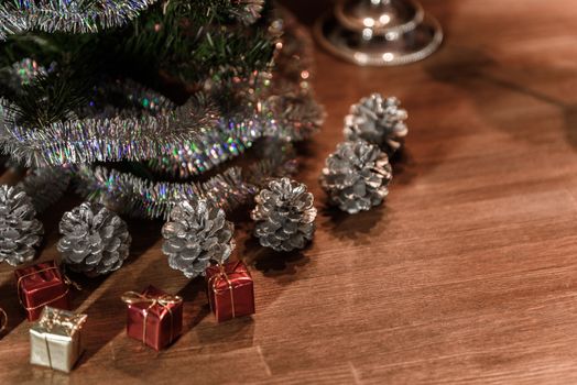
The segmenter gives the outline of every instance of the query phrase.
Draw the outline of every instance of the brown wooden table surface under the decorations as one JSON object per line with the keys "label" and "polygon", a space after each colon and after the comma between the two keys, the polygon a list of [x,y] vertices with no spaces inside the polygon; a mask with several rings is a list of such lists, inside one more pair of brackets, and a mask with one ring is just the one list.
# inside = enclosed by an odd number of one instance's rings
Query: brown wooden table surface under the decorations
{"label": "brown wooden table surface under the decorations", "polygon": [[[286,1],[305,23],[324,1]],[[0,266],[1,384],[577,383],[577,3],[424,1],[446,41],[431,58],[359,68],[317,50],[324,130],[298,178],[317,198],[311,248],[280,256],[239,224],[258,312],[217,324],[200,280],[171,271],[160,222],[131,222],[129,264],[85,282],[87,351],[70,375],[29,365],[29,323]],[[410,113],[385,206],[327,209],[317,176],[348,107],[372,91]],[[11,182],[9,176],[4,182]],[[56,258],[43,218],[41,258]],[[124,336],[124,290],[186,299],[185,331],[156,353]]]}

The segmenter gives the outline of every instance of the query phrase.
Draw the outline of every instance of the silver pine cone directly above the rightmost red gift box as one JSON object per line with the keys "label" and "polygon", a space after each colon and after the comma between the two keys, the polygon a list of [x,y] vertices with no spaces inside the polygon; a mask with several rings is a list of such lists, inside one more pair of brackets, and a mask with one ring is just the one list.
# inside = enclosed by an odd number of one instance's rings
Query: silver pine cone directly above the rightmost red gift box
{"label": "silver pine cone directly above the rightmost red gift box", "polygon": [[210,262],[225,263],[232,250],[235,224],[221,208],[206,200],[183,199],[162,228],[162,252],[168,265],[187,278],[205,275]]}

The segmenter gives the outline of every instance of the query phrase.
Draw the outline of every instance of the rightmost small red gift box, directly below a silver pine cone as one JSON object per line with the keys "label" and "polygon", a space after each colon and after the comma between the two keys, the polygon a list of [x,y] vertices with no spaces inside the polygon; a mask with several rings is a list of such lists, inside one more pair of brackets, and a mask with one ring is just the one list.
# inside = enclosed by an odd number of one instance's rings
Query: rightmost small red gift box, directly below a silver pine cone
{"label": "rightmost small red gift box, directly below a silver pine cone", "polygon": [[208,302],[218,322],[254,314],[254,289],[247,266],[238,262],[206,270]]}

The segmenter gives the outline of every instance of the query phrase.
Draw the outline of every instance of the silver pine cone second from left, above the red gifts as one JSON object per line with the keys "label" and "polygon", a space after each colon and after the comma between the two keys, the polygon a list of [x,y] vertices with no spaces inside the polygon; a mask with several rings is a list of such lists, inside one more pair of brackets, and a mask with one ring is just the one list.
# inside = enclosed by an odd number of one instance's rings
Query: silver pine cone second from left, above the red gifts
{"label": "silver pine cone second from left, above the red gifts", "polygon": [[65,212],[57,249],[72,271],[97,276],[117,271],[129,255],[127,223],[98,204],[84,202]]}

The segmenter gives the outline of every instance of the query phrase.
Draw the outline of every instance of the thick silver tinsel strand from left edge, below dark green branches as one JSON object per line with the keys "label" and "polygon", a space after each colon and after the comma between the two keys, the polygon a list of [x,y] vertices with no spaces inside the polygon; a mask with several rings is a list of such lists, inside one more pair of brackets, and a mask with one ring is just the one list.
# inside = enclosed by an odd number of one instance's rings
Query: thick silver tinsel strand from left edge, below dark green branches
{"label": "thick silver tinsel strand from left edge, below dark green branches", "polygon": [[175,143],[199,140],[213,118],[210,105],[190,100],[167,113],[141,111],[92,117],[29,128],[18,123],[18,108],[0,98],[0,144],[29,166],[141,161],[170,155]]}

